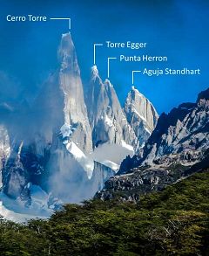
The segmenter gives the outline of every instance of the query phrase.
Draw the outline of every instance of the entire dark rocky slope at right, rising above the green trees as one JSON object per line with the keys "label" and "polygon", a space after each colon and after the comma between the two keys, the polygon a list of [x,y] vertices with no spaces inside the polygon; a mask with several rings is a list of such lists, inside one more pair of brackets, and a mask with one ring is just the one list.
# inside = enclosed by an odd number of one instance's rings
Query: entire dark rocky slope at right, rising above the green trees
{"label": "entire dark rocky slope at right, rising above the green trees", "polygon": [[117,176],[96,197],[138,201],[140,195],[209,167],[209,89],[196,103],[184,103],[161,114],[138,156],[127,156]]}

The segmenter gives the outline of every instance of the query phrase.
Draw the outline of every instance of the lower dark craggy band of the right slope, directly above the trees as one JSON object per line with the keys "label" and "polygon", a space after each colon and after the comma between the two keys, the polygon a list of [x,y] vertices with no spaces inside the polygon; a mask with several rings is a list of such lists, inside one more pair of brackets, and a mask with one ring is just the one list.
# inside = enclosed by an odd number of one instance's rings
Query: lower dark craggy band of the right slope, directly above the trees
{"label": "lower dark craggy band of the right slope, directly above the trees", "polygon": [[[152,191],[163,190],[167,185],[177,183],[196,172],[208,170],[209,152],[204,152],[199,162],[193,165],[179,163],[179,156],[169,157],[169,165],[154,164],[139,166],[129,174],[112,176],[104,183],[95,197],[102,200],[118,199],[137,203],[140,197]],[[186,163],[186,162],[185,162]]]}

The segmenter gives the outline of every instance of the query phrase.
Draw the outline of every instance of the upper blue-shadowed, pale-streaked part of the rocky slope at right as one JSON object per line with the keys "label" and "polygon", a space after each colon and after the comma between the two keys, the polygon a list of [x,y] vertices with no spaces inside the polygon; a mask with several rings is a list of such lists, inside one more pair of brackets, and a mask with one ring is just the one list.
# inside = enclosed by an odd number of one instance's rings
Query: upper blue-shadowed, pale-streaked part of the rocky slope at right
{"label": "upper blue-shadowed, pale-streaked part of the rocky slope at right", "polygon": [[161,156],[206,150],[209,146],[209,100],[207,91],[199,93],[196,104],[182,104],[162,114],[145,145],[143,162],[152,163]]}

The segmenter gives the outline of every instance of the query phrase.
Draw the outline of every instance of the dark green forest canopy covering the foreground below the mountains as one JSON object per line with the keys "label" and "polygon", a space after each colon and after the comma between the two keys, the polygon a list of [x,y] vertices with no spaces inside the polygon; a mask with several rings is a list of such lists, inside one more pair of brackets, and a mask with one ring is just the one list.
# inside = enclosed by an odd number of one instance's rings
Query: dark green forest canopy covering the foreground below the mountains
{"label": "dark green forest canopy covering the foreground below the mountains", "polygon": [[209,255],[209,172],[139,204],[66,204],[49,220],[0,221],[0,255]]}

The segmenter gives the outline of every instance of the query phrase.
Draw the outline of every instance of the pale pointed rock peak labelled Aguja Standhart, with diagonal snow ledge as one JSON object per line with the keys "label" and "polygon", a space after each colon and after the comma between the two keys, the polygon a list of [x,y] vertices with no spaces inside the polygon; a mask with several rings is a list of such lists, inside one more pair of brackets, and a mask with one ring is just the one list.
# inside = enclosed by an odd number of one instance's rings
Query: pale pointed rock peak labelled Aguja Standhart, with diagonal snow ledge
{"label": "pale pointed rock peak labelled Aguja Standhart, with diagonal snow ledge", "polygon": [[134,86],[125,100],[124,112],[131,128],[138,138],[138,148],[142,148],[158,122],[158,113],[150,100],[138,92]]}

